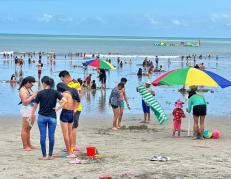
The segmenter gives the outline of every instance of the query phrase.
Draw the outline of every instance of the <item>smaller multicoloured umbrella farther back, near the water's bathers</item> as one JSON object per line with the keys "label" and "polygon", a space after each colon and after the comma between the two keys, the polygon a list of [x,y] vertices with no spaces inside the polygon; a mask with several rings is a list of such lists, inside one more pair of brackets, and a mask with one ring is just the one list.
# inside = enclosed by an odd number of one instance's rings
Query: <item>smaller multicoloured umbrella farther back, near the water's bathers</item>
{"label": "smaller multicoloured umbrella farther back, near the water's bathers", "polygon": [[106,70],[115,70],[116,69],[111,63],[109,63],[105,60],[100,60],[100,59],[86,61],[84,63],[84,65],[96,67],[99,69],[106,69]]}

